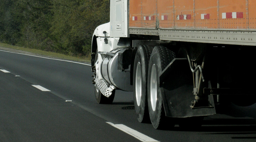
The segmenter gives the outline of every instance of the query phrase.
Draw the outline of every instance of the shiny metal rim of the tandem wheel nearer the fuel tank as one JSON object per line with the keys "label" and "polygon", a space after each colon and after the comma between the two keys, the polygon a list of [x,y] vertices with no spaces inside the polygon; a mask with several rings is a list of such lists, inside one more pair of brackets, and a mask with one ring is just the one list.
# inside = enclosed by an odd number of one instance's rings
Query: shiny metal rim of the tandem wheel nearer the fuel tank
{"label": "shiny metal rim of the tandem wheel nearer the fuel tank", "polygon": [[137,63],[135,77],[136,77],[136,80],[135,80],[136,102],[137,102],[137,105],[140,106],[140,100],[141,100],[141,66],[140,66],[140,62]]}

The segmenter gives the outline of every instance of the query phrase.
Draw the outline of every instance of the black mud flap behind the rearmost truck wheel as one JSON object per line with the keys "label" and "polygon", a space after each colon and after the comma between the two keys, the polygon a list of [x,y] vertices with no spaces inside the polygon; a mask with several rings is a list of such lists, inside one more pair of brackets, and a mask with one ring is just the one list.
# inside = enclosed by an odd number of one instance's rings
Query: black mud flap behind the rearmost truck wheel
{"label": "black mud flap behind the rearmost truck wheel", "polygon": [[186,58],[175,58],[162,71],[159,76],[161,93],[163,96],[164,110],[168,117],[192,117],[216,114],[212,95],[208,95],[208,101],[213,107],[192,109],[193,74]]}

